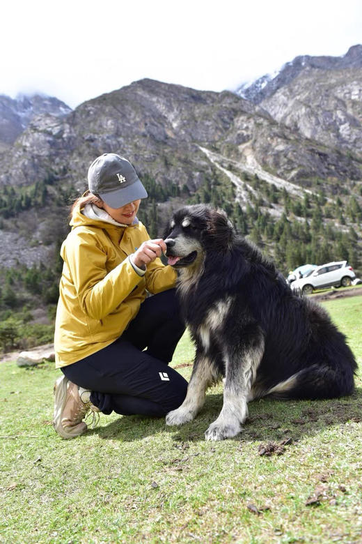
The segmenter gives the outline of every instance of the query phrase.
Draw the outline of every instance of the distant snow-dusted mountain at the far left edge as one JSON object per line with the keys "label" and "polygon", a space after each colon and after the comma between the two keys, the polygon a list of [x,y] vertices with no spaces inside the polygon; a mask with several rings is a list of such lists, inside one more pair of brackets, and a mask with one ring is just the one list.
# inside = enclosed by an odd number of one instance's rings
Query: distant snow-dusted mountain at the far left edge
{"label": "distant snow-dusted mountain at the far left edge", "polygon": [[51,96],[19,95],[13,99],[0,95],[0,151],[13,144],[37,115],[48,113],[63,116],[70,111],[71,108],[65,103]]}

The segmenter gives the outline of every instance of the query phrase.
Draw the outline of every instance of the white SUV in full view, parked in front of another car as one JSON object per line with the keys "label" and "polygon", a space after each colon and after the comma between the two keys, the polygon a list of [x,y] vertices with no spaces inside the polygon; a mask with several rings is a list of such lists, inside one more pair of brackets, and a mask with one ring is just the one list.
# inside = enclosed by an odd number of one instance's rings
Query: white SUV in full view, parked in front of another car
{"label": "white SUV in full view, parked in front of another car", "polygon": [[292,282],[293,291],[300,290],[304,294],[310,294],[313,289],[323,289],[324,287],[347,287],[352,285],[352,280],[356,278],[352,266],[347,261],[329,262],[318,266],[308,278],[301,278]]}

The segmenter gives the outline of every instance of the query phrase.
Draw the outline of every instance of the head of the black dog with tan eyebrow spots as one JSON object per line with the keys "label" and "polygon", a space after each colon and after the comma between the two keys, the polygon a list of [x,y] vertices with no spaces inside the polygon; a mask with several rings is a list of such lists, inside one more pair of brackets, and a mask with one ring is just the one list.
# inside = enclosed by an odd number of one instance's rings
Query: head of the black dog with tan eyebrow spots
{"label": "head of the black dog with tan eyebrow spots", "polygon": [[226,251],[233,226],[220,210],[196,204],[176,211],[165,232],[168,264],[175,268],[197,266],[209,250]]}

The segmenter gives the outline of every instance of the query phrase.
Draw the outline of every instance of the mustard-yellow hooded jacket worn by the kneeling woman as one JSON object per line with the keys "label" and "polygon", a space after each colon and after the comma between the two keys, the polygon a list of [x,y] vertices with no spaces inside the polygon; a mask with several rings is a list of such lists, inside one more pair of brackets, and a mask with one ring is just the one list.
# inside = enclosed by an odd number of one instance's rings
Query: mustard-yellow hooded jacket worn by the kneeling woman
{"label": "mustard-yellow hooded jacket worn by the kneeling woman", "polygon": [[71,232],[61,247],[63,273],[56,310],[56,368],[70,365],[114,342],[139,312],[146,290],[174,287],[176,273],[160,259],[141,276],[129,262],[149,240],[139,222],[121,227],[89,219],[74,209]]}

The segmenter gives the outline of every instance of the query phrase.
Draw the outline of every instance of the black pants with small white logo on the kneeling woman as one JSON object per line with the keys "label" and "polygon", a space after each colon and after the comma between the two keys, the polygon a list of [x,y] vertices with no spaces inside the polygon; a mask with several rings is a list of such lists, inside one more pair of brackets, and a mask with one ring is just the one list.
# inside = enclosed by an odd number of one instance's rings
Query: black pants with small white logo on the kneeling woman
{"label": "black pants with small white logo on the kneeling woman", "polygon": [[92,391],[91,402],[104,414],[161,417],[178,408],[187,393],[187,381],[168,367],[183,333],[178,299],[170,289],[145,299],[116,342],[61,370]]}

